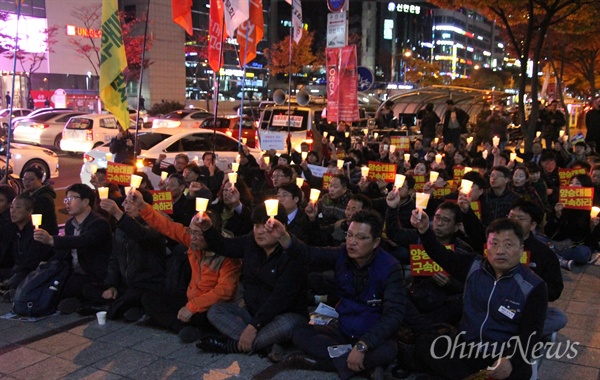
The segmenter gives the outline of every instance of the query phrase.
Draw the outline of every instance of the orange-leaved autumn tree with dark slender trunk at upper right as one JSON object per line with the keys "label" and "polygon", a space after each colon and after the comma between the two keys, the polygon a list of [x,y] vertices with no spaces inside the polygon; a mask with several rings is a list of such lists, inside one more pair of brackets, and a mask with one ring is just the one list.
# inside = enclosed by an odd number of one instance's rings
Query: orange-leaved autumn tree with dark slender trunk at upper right
{"label": "orange-leaved autumn tree with dark slender trunk at upper right", "polygon": [[[431,0],[432,3],[450,9],[470,8],[496,22],[503,28],[509,48],[520,62],[519,72],[519,119],[525,136],[525,149],[531,149],[539,115],[539,82],[544,46],[548,33],[558,28],[566,19],[579,12],[589,12],[597,0]],[[533,80],[527,77],[528,61],[532,62]],[[532,104],[529,121],[525,118],[525,95],[527,84],[531,85]]]}

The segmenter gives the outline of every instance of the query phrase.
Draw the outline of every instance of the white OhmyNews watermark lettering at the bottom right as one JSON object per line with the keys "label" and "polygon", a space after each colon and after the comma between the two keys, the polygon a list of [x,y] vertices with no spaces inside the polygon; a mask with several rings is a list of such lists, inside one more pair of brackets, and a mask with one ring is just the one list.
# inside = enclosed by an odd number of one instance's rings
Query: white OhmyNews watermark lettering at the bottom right
{"label": "white OhmyNews watermark lettering at the bottom right", "polygon": [[[515,355],[521,355],[521,358],[527,364],[533,364],[537,359],[544,357],[546,359],[561,359],[566,357],[567,359],[573,359],[577,356],[577,346],[579,342],[537,342],[531,349],[531,358],[528,358],[527,353],[531,345],[531,340],[535,336],[534,331],[527,339],[527,344],[523,345],[521,339],[518,336],[513,336],[506,342],[493,342],[493,343],[482,343],[482,342],[459,342],[461,335],[465,334],[461,331],[454,340],[448,335],[441,335],[431,343],[429,353],[434,359],[442,359],[449,357],[451,359],[457,357],[459,359],[487,359],[487,358],[512,358]],[[435,352],[435,346],[438,340],[444,339],[448,343],[448,348],[443,355],[437,355]],[[564,345],[564,346],[563,346]],[[506,353],[506,354],[505,354]],[[496,363],[499,363],[497,361]],[[489,370],[495,369],[496,366],[489,367]]]}

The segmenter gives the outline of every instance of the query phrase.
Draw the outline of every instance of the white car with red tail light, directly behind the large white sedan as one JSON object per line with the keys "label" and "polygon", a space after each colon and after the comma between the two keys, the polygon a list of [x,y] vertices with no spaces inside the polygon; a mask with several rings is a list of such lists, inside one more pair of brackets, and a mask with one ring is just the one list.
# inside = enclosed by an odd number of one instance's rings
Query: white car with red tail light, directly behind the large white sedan
{"label": "white car with red tail light, directly behind the large white sedan", "polygon": [[[130,128],[135,128],[131,121]],[[112,114],[88,114],[69,119],[63,128],[60,149],[83,153],[110,140],[119,133],[119,122]]]}

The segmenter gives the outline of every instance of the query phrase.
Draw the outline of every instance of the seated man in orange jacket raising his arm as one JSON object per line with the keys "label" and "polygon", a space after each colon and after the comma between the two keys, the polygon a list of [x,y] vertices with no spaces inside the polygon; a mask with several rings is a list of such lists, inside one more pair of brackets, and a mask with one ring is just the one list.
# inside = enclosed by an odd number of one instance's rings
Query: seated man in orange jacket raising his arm
{"label": "seated man in orange jacket raising his arm", "polygon": [[237,289],[241,263],[207,251],[207,244],[194,217],[189,227],[171,221],[145,203],[139,192],[129,195],[148,225],[167,237],[189,247],[188,258],[192,278],[187,294],[159,291],[142,298],[144,310],[158,325],[174,330],[186,343],[199,339],[211,329],[206,318],[208,308],[231,300]]}

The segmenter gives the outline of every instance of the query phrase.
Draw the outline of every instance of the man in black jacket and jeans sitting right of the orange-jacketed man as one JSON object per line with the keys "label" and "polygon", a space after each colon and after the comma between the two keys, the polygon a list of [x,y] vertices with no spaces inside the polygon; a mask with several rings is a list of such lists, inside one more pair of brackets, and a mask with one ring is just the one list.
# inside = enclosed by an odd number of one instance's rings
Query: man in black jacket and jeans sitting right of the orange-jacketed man
{"label": "man in black jacket and jeans sitting right of the orange-jacketed man", "polygon": [[[274,217],[287,224],[279,205]],[[307,266],[287,255],[278,239],[267,229],[269,216],[264,204],[252,212],[254,229],[234,238],[223,237],[203,215],[200,228],[209,249],[243,259],[244,306],[235,303],[213,305],[208,319],[223,335],[207,335],[196,346],[207,352],[235,353],[268,350],[275,343],[291,339],[294,327],[306,323]]]}

